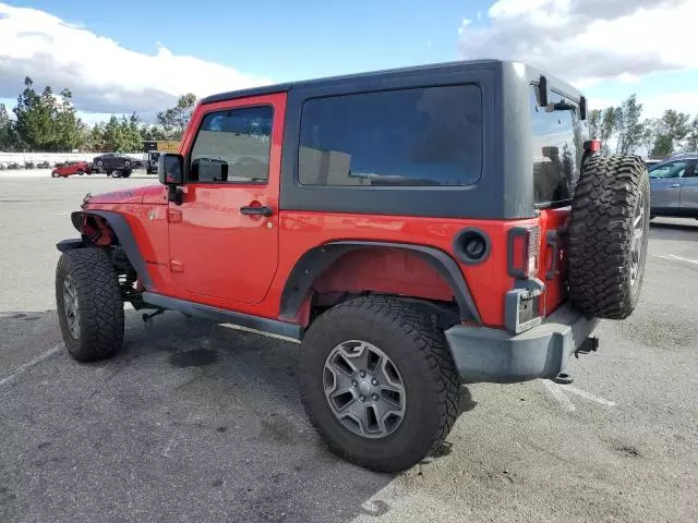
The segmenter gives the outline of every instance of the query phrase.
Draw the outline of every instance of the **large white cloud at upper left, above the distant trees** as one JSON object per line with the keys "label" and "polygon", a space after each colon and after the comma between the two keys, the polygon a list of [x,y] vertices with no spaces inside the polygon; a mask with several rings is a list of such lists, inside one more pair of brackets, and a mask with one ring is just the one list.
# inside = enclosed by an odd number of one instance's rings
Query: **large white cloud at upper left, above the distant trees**
{"label": "large white cloud at upper left, above the distant trees", "polygon": [[25,76],[40,88],[70,88],[87,112],[153,112],[185,93],[203,97],[269,83],[159,44],[155,54],[134,52],[43,11],[0,3],[0,98],[15,98]]}

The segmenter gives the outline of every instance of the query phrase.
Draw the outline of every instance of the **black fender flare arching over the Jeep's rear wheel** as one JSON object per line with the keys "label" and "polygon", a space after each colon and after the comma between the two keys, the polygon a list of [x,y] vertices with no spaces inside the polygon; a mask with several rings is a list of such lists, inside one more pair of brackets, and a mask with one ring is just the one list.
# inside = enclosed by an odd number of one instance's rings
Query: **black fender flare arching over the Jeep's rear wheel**
{"label": "black fender flare arching over the Jeep's rear wheel", "polygon": [[470,294],[468,283],[462,272],[460,272],[458,268],[458,264],[445,252],[434,247],[412,245],[409,243],[359,241],[325,243],[303,254],[296,263],[281,292],[279,317],[286,320],[296,317],[313,280],[329,267],[333,262],[342,254],[368,247],[400,248],[418,255],[436,269],[454,291],[454,296],[460,309],[460,318],[467,321],[482,323],[476,302],[472,299],[472,294]]}

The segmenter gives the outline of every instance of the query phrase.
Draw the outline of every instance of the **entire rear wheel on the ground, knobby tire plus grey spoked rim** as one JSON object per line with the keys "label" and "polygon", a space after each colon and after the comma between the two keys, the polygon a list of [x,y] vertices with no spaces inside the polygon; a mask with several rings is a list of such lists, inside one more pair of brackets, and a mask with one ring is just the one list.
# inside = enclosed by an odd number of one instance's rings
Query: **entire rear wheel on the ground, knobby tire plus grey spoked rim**
{"label": "entire rear wheel on the ground, knobby tire plus grey spoked rim", "polygon": [[365,469],[419,463],[458,415],[460,382],[444,335],[400,300],[362,296],[330,308],[310,327],[300,362],[311,423],[333,452]]}

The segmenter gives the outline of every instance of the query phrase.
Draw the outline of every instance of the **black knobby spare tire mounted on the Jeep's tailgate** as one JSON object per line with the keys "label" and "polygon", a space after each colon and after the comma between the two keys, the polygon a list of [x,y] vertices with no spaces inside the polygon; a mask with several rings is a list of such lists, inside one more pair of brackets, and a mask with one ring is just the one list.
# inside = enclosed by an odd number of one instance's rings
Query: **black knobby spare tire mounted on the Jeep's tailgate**
{"label": "black knobby spare tire mounted on the Jeep's tailgate", "polygon": [[[643,196],[643,198],[641,198]],[[631,282],[631,241],[643,203],[639,269]],[[624,319],[637,306],[650,222],[647,166],[638,156],[588,158],[571,204],[568,283],[573,306],[589,317]]]}

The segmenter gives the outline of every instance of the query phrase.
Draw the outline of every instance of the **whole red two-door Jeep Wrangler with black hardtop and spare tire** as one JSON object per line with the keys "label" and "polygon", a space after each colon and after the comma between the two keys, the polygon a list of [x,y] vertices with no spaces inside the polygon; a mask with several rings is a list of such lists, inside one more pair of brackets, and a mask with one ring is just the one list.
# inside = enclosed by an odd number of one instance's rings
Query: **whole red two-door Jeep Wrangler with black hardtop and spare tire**
{"label": "whole red two-door Jeep Wrangler with black hardtop and spare tire", "polygon": [[461,384],[567,377],[640,292],[649,180],[587,102],[520,63],[299,82],[200,101],[161,185],[87,195],[58,244],[60,326],[112,356],[123,303],[300,342],[329,448],[375,471],[437,449]]}

